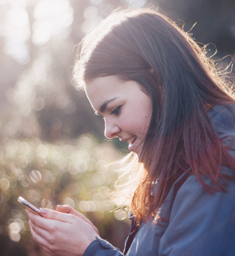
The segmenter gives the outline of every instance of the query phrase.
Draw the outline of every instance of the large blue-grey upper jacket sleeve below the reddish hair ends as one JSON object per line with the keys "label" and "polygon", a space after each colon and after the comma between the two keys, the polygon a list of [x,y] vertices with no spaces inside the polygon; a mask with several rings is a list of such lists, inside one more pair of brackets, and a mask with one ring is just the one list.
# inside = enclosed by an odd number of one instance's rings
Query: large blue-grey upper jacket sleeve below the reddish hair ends
{"label": "large blue-grey upper jacket sleeve below the reddish hair ends", "polygon": [[210,194],[195,175],[187,178],[174,199],[159,256],[234,255],[235,183],[228,183],[228,192]]}

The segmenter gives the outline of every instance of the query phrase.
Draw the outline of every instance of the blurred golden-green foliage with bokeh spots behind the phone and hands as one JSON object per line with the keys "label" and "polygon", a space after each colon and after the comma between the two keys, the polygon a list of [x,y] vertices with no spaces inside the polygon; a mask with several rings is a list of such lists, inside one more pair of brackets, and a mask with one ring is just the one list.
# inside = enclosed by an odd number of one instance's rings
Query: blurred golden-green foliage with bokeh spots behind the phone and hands
{"label": "blurred golden-green foliage with bokeh spots behind the phone and hands", "polygon": [[[118,158],[121,154],[111,143],[99,144],[90,134],[54,144],[40,139],[5,141],[0,155],[1,233],[16,242],[31,242],[25,208],[17,201],[22,196],[37,208],[71,205],[105,234],[114,218],[110,214],[114,204],[107,192],[117,174],[115,165],[108,164]],[[115,216],[126,215],[119,210]]]}

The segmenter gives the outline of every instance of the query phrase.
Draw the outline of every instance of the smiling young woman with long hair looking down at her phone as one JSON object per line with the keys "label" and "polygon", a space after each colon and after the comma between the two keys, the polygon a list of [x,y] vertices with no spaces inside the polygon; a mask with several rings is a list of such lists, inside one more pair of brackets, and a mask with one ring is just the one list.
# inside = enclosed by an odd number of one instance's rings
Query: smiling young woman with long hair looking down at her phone
{"label": "smiling young woman with long hair looking down at her phone", "polygon": [[138,156],[131,230],[121,253],[69,206],[41,208],[46,218],[27,214],[42,248],[51,255],[234,255],[234,95],[204,48],[157,12],[118,11],[82,41],[74,78],[104,116],[106,137],[127,141]]}

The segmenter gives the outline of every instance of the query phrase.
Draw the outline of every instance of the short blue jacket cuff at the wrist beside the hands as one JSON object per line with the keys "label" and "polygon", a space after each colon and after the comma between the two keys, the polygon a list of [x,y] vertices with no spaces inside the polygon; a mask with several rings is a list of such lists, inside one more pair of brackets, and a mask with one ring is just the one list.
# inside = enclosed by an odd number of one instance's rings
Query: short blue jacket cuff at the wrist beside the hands
{"label": "short blue jacket cuff at the wrist beside the hands", "polygon": [[118,248],[115,248],[106,240],[95,238],[96,240],[91,242],[87,250],[84,251],[83,256],[123,256],[123,253]]}

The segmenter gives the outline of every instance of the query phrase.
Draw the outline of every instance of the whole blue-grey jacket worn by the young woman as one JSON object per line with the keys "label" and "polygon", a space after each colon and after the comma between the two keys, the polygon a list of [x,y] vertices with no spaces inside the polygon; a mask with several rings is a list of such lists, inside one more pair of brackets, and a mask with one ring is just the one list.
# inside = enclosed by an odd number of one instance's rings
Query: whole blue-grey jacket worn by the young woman
{"label": "whole blue-grey jacket worn by the young woman", "polygon": [[[235,106],[215,106],[209,115],[223,143],[232,142],[230,154],[235,158]],[[195,175],[183,173],[161,206],[159,216],[164,221],[142,222],[137,229],[132,220],[123,253],[97,238],[83,256],[234,256],[235,182],[228,180],[228,184],[227,193],[211,195]]]}

